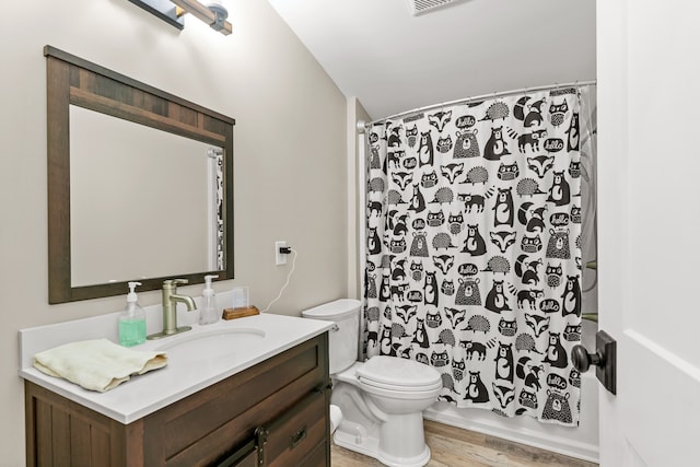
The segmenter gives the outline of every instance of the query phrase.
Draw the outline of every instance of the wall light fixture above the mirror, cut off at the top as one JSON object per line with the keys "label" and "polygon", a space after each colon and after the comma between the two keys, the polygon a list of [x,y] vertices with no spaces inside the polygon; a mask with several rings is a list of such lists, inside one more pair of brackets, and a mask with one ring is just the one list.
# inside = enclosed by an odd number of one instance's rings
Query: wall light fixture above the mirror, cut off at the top
{"label": "wall light fixture above the mirror, cut off at the top", "polygon": [[184,15],[189,13],[209,24],[212,30],[228,36],[232,32],[226,21],[229,12],[221,0],[210,0],[205,4],[198,0],[129,0],[143,10],[156,15],[167,24],[182,30],[185,27]]}

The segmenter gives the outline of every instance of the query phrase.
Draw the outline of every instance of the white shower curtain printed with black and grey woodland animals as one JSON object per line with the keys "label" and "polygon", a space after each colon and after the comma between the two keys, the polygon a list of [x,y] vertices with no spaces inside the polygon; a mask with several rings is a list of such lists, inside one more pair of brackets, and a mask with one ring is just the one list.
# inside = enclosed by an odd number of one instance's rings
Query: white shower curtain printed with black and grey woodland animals
{"label": "white shower curtain printed with black and grey woodland animals", "polygon": [[365,351],[440,399],[576,425],[579,94],[460,104],[370,130]]}

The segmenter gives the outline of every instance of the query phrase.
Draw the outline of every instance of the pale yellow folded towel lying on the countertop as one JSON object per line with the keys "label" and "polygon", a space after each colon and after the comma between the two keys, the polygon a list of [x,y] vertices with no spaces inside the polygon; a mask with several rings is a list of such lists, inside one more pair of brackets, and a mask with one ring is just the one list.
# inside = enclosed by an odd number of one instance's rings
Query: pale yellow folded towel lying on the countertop
{"label": "pale yellow folded towel lying on the countertop", "polygon": [[70,342],[34,355],[42,372],[101,393],[166,364],[165,352],[126,349],[107,339]]}

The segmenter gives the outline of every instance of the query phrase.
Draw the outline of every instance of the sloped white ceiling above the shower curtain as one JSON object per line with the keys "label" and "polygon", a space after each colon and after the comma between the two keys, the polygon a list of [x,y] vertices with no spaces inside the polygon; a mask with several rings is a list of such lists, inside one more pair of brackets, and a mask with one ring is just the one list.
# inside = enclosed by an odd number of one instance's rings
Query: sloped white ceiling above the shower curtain
{"label": "sloped white ceiling above the shower curtain", "polygon": [[493,92],[595,79],[595,0],[268,0],[373,119]]}

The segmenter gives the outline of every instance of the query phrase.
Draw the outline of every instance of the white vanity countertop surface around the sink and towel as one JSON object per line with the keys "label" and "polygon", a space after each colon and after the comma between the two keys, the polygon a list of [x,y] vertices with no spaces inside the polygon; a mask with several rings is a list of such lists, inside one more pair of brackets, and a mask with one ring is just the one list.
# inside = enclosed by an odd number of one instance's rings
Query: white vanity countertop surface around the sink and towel
{"label": "white vanity countertop surface around the sink and towel", "polygon": [[[118,314],[114,314],[114,317],[116,316]],[[91,319],[96,318],[86,318],[85,320]],[[100,317],[100,319],[106,318]],[[82,320],[71,322],[72,327],[80,328],[80,325],[77,326],[80,322]],[[332,322],[272,314],[221,320],[207,326],[191,324],[192,330],[190,331],[159,340],[148,340],[131,349],[159,350],[163,346],[172,346],[176,339],[191,340],[199,334],[225,332],[233,329],[260,329],[265,331],[265,337],[260,339],[261,343],[247,347],[245,352],[231,353],[225,357],[209,359],[206,355],[192,354],[191,359],[168,358],[168,364],[165,367],[132,376],[128,382],[106,393],[88,390],[66,380],[48,376],[32,365],[34,353],[71,341],[67,340],[65,336],[58,343],[55,340],[50,342],[52,339],[47,339],[48,335],[57,336],[57,331],[60,331],[61,328],[63,330],[71,328],[70,323],[43,326],[20,331],[20,376],[126,424],[316,337],[330,329],[332,325]],[[91,332],[90,336],[84,334],[74,336],[72,340],[97,337],[109,338],[109,336],[95,336],[94,332]],[[188,349],[191,349],[190,345],[188,345]],[[165,351],[167,352],[167,350]],[[182,352],[179,353],[182,355]]]}

